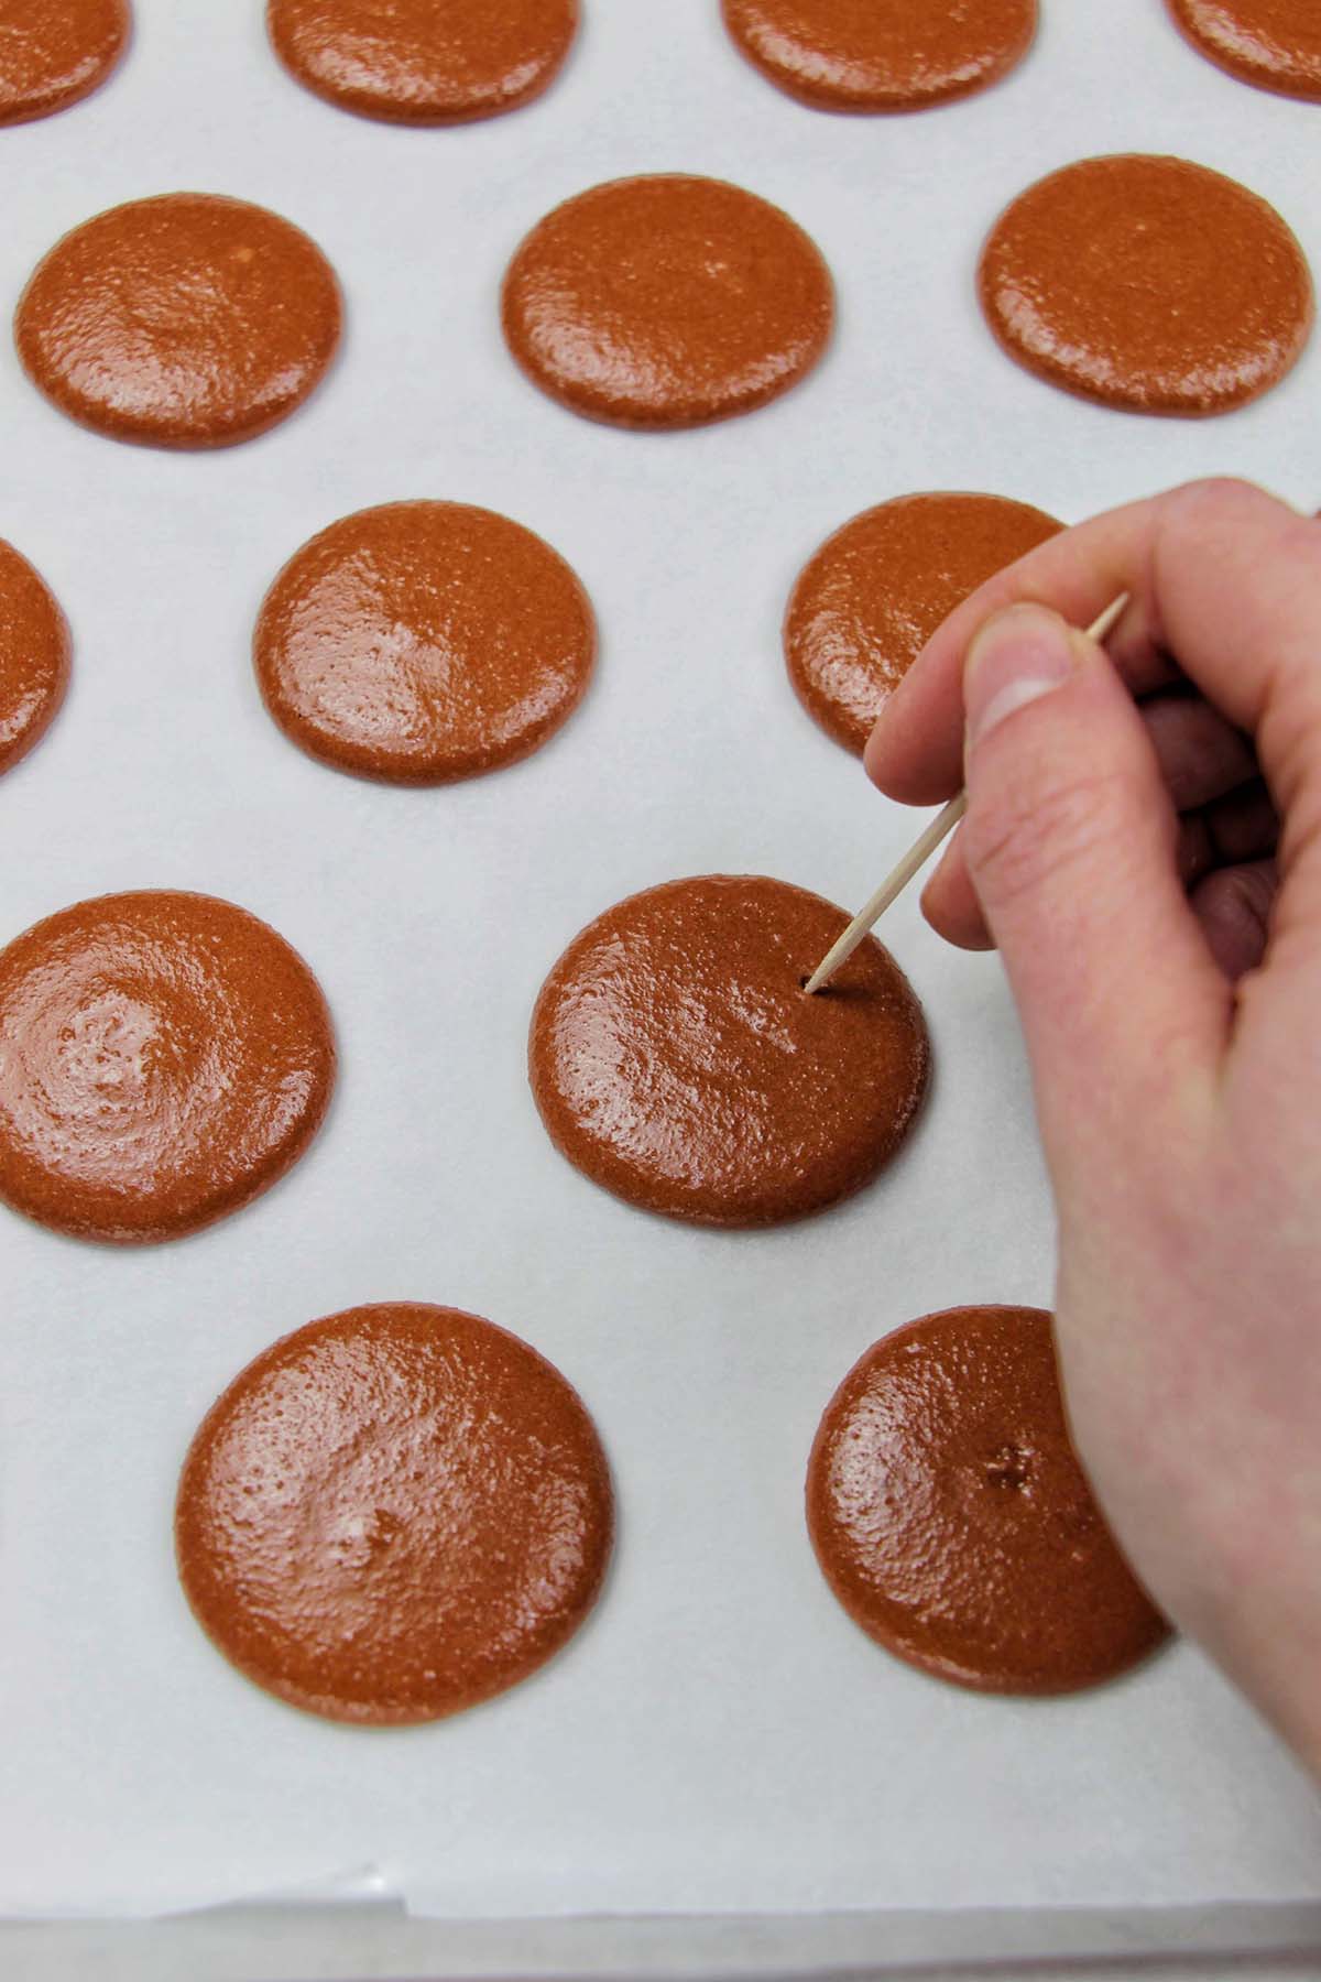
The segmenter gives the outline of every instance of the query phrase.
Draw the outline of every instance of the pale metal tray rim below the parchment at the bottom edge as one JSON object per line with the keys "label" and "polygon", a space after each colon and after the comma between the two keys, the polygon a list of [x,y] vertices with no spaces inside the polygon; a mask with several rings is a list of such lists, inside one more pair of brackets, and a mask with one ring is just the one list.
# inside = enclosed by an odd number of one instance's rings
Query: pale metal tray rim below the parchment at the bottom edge
{"label": "pale metal tray rim below the parchment at the bottom edge", "polygon": [[398,1903],[0,1923],[24,1982],[1299,1982],[1317,1907],[420,1921]]}

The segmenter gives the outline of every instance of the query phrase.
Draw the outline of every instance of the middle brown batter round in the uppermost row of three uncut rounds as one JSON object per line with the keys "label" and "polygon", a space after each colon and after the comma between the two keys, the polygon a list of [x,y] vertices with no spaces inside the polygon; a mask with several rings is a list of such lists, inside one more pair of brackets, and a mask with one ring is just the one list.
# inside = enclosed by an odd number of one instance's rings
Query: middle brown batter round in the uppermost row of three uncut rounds
{"label": "middle brown batter round in the uppermost row of three uncut rounds", "polygon": [[778,206],[719,178],[616,178],[557,206],[505,275],[529,379],[614,426],[703,426],[778,398],[834,321],[830,270]]}

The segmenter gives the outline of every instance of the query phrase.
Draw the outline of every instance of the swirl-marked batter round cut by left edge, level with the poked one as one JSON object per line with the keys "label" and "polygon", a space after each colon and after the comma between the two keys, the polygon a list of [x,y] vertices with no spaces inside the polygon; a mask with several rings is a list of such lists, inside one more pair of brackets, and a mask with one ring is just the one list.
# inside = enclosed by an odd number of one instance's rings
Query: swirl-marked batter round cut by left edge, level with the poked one
{"label": "swirl-marked batter round cut by left edge, level with the poked one", "polygon": [[180,1239],[265,1191],[335,1080],[325,999],[263,922],[105,894],[0,951],[0,1197],[75,1239]]}

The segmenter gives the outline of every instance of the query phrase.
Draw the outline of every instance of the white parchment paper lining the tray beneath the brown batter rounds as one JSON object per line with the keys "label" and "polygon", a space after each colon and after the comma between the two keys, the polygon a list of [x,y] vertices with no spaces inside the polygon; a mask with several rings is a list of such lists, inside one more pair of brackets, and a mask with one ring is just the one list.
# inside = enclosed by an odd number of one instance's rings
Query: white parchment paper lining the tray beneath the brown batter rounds
{"label": "white parchment paper lining the tray beneath the brown batter rounds", "polygon": [[[1315,507],[1321,345],[1224,420],[1109,414],[998,353],[972,266],[1044,170],[1159,149],[1264,192],[1321,270],[1321,111],[1220,75],[1159,0],[1046,0],[1002,87],[858,121],[772,91],[713,0],[588,0],[541,105],[452,133],[301,93],[255,0],[137,14],[99,97],[0,133],[0,295],[87,214],[188,186],[321,240],[349,335],[303,414],[216,456],[83,434],[0,349],[0,533],[77,640],[67,710],[0,785],[0,934],[111,888],[228,896],[317,969],[343,1080],[291,1177],[182,1245],[113,1253],[0,1217],[0,1909],[151,1915],[368,1865],[454,1919],[1321,1897],[1311,1790],[1196,1651],[1073,1701],[974,1699],[862,1637],[808,1550],[806,1451],[854,1358],[931,1308],[1050,1298],[994,959],[947,951],[913,900],[893,912],[937,1045],[929,1112],[875,1189],[778,1233],[618,1205],[555,1156],[523,1072],[545,969],[622,894],[751,870],[852,904],[911,838],[780,666],[784,595],[836,523],[915,488],[1079,517],[1204,472]],[[497,285],[555,200],[667,168],[784,204],[832,264],[840,329],[780,404],[630,436],[527,385]],[[248,664],[283,559],[406,496],[543,531],[602,626],[555,743],[436,793],[303,759]],[[612,1455],[620,1544],[600,1609],[535,1681],[364,1732],[279,1707],[210,1649],[170,1502],[250,1356],[392,1296],[487,1314],[566,1372]]]}

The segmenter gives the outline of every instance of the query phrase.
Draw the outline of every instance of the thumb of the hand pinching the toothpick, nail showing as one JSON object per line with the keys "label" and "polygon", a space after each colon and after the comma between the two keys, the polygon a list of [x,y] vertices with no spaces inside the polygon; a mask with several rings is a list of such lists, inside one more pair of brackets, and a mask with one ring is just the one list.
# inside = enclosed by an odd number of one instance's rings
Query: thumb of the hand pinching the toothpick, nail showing
{"label": "thumb of the hand pinching the toothpick, nail showing", "polygon": [[1018,1001],[1048,1154],[1147,1134],[1214,1078],[1228,991],[1174,864],[1176,819],[1105,652],[1016,605],[965,662],[972,886]]}

